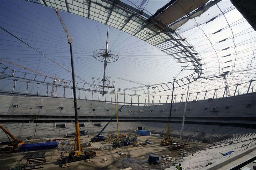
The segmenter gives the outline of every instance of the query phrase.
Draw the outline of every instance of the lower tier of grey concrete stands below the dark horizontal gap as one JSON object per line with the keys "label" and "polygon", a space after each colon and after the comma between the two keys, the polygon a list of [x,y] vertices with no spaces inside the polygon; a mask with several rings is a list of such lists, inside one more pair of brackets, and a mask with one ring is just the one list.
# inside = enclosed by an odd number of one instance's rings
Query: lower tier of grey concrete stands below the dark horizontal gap
{"label": "lower tier of grey concrete stands below the dark horizontal gap", "polygon": [[[84,123],[85,127],[80,127],[80,130],[88,131],[89,134],[98,134],[105,126],[106,122],[80,122]],[[94,123],[101,123],[101,127],[95,127]],[[65,128],[55,128],[55,123],[3,123],[2,125],[7,128],[13,135],[20,139],[41,138],[41,137],[63,137],[65,134],[75,132],[75,124],[73,122],[63,122]],[[119,130],[137,130],[142,127],[143,130],[149,130],[158,134],[166,134],[168,123],[154,123],[154,122],[120,122]],[[116,122],[108,124],[104,133],[116,131]],[[170,134],[175,137],[180,136],[181,124],[171,123]],[[225,127],[216,125],[197,125],[185,124],[183,136],[185,138],[202,140],[204,138],[213,139],[220,136],[230,134],[235,139],[244,139],[248,137],[255,137],[256,129],[241,128],[241,127]],[[0,140],[7,140],[6,134],[0,131]]]}

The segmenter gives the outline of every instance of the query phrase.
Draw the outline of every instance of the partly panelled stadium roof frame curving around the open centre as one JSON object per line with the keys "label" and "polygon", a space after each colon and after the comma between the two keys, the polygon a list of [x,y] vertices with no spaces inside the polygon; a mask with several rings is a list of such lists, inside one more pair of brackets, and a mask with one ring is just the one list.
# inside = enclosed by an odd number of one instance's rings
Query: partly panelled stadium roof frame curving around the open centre
{"label": "partly panelled stadium roof frame curving around the open centre", "polygon": [[[188,65],[189,73],[177,79],[175,84],[180,99],[186,91],[184,85],[189,82],[193,82],[190,98],[195,100],[200,98],[199,95],[201,95],[200,99],[207,99],[209,97],[207,93],[213,95],[212,98],[224,97],[228,88],[233,92],[232,95],[239,93],[239,87],[240,93],[255,90],[255,30],[247,26],[249,24],[245,24],[246,27],[242,29],[241,26],[246,23],[246,20],[243,17],[234,19],[230,16],[229,13],[236,10],[231,2],[171,0],[151,15],[141,7],[134,4],[128,5],[129,1],[27,1],[109,25],[155,46],[177,63]],[[193,38],[190,39],[190,37]],[[82,82],[77,83],[78,89],[92,93],[100,92],[97,86],[95,87],[82,78],[79,79]],[[57,85],[69,87],[71,81],[64,79],[63,81],[67,81],[68,84],[64,85],[59,82]],[[85,87],[84,83],[90,86]],[[163,103],[160,102],[161,98],[167,102],[169,93],[162,94],[162,92],[171,92],[171,80],[150,86],[154,86],[154,88],[149,88],[153,97],[152,103],[155,103],[154,96],[158,97],[158,103]],[[244,89],[243,92],[241,89]],[[221,95],[217,96],[218,90]],[[132,96],[147,94],[147,86],[117,87],[117,91],[118,94],[132,98]],[[111,95],[113,90],[110,89],[107,93]],[[132,99],[130,103],[133,103]]]}

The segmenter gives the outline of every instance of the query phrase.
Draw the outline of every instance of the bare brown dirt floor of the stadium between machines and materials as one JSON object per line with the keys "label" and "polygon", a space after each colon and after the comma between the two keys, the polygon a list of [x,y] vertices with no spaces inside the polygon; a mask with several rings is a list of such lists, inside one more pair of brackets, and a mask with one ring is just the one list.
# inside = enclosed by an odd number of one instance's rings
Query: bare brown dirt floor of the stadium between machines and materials
{"label": "bare brown dirt floor of the stadium between machines and materials", "polygon": [[[112,144],[109,142],[95,142],[91,143],[90,147],[86,147],[84,145],[85,142],[90,141],[91,137],[94,137],[92,135],[89,136],[83,136],[81,137],[81,146],[83,150],[89,151],[89,150],[96,150],[99,147],[108,147]],[[107,135],[105,135],[107,137]],[[62,137],[59,137],[62,138]],[[57,139],[57,138],[44,138],[44,139],[32,139],[27,140],[25,143],[37,143],[37,142],[46,142],[46,140],[49,139]],[[186,141],[187,144],[190,144],[190,147],[185,147],[182,150],[170,150],[169,148],[160,145],[161,140],[164,139],[164,137],[156,137],[156,136],[138,136],[138,142],[145,143],[146,139],[150,140],[151,142],[154,142],[154,144],[147,144],[146,146],[139,145],[138,147],[130,146],[122,146],[121,148],[117,149],[108,149],[108,150],[96,150],[96,156],[92,158],[91,160],[82,160],[82,161],[76,161],[68,163],[68,167],[61,168],[61,165],[63,164],[62,161],[60,161],[60,155],[61,151],[58,149],[51,149],[51,150],[43,150],[43,151],[31,151],[31,152],[19,152],[19,151],[8,151],[8,152],[0,152],[0,169],[10,169],[19,167],[20,165],[25,165],[27,160],[22,160],[23,156],[25,156],[27,153],[36,153],[36,152],[46,152],[46,162],[44,163],[43,169],[49,169],[49,170],[57,170],[57,169],[66,169],[66,170],[72,170],[72,169],[113,169],[113,170],[119,170],[119,169],[125,169],[128,167],[131,167],[132,169],[143,169],[147,167],[154,167],[155,165],[149,165],[148,164],[148,155],[149,154],[155,154],[155,155],[169,155],[172,158],[177,158],[180,156],[180,152],[193,152],[194,150],[204,147],[207,144],[201,143],[198,141]],[[178,138],[173,138],[173,140],[179,141]],[[72,138],[65,138],[65,141],[69,141],[69,146],[74,146],[74,140]],[[61,141],[60,141],[61,142]],[[66,145],[62,145],[59,142],[59,147],[65,147]],[[68,155],[68,153],[72,151],[64,151],[65,156]],[[116,153],[116,151],[122,151],[126,155],[119,155]],[[101,160],[103,158],[107,158],[107,161],[101,163]],[[138,163],[139,162],[139,163]]]}

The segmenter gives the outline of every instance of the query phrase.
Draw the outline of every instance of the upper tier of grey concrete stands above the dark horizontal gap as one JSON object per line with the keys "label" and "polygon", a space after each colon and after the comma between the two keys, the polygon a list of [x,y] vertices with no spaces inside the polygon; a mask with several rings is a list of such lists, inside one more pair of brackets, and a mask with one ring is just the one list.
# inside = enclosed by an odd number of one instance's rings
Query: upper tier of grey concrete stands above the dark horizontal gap
{"label": "upper tier of grey concrete stands above the dark horizontal gap", "polygon": [[[72,99],[0,95],[0,101],[0,115],[74,115]],[[248,103],[251,104],[250,107],[248,107]],[[18,104],[19,107],[13,108],[13,104]],[[173,104],[172,117],[183,116],[184,104],[184,102]],[[43,109],[39,109],[38,106],[43,106]],[[80,108],[80,111],[78,111],[79,116],[112,116],[115,113],[115,105],[110,103],[78,100],[77,106]],[[61,110],[59,107],[63,107],[63,109]],[[120,108],[121,105],[118,107]],[[211,112],[212,108],[215,107],[218,107],[218,112]],[[156,106],[125,105],[119,116],[168,117],[169,109],[170,104]],[[176,109],[176,111],[174,111],[174,109]],[[190,111],[188,111],[189,109]],[[186,116],[212,118],[256,117],[256,93],[221,99],[188,102]]]}

